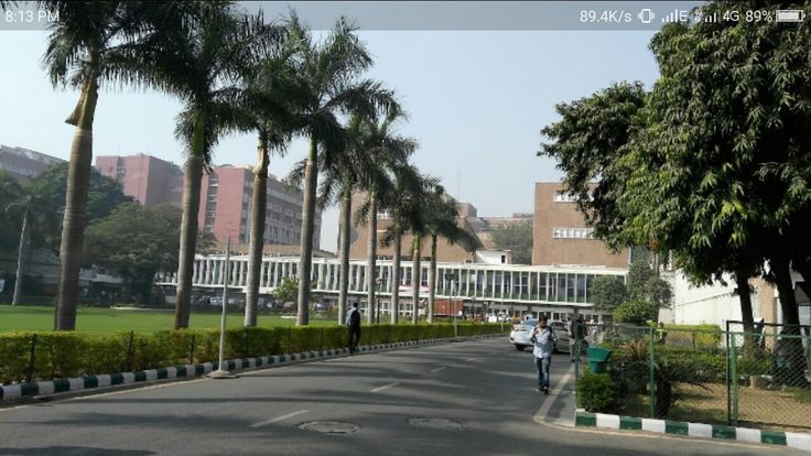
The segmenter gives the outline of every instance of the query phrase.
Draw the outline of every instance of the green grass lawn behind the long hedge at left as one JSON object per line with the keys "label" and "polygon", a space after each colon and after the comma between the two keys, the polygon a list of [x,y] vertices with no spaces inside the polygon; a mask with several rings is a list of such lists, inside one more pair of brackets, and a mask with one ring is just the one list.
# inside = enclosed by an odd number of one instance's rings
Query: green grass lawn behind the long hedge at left
{"label": "green grass lawn behind the long hedge at left", "polygon": [[[230,308],[228,311],[231,311]],[[192,329],[217,329],[219,328],[219,313],[194,312],[190,317]],[[233,311],[228,314],[228,327],[242,326],[244,314],[241,311]],[[294,326],[295,318],[282,318],[280,316],[259,315],[259,326]],[[314,319],[310,317],[313,326],[336,325],[335,321]],[[134,330],[136,333],[154,333],[156,330],[172,329],[174,325],[174,312],[171,311],[129,311],[98,307],[79,307],[76,316],[76,330],[88,334],[112,334],[118,332]],[[51,306],[11,306],[0,305],[0,333],[13,330],[22,332],[47,332],[54,326],[54,308]]]}

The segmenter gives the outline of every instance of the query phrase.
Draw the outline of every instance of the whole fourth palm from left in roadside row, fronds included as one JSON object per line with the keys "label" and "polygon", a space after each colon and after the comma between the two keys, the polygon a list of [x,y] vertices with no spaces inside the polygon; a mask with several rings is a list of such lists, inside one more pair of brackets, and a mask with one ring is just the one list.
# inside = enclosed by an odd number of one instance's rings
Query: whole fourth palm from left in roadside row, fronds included
{"label": "whole fourth palm from left in roadside row, fronds included", "polygon": [[318,186],[318,150],[323,162],[331,166],[346,149],[346,131],[337,115],[359,112],[375,118],[393,105],[389,90],[370,79],[358,76],[371,66],[371,57],[354,34],[355,28],[340,19],[322,44],[312,43],[311,33],[302,30],[305,48],[296,68],[299,87],[306,104],[299,113],[299,123],[310,139],[304,170],[304,204],[302,208],[301,260],[299,263],[299,316],[296,325],[309,324],[309,306],[315,196]]}

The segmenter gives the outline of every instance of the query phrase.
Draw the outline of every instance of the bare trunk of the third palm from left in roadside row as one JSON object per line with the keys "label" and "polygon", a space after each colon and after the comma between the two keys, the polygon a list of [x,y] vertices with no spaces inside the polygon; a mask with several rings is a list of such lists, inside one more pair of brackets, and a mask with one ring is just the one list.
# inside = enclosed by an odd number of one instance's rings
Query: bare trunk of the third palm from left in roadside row
{"label": "bare trunk of the third palm from left in roadside row", "polygon": [[253,191],[250,195],[250,241],[248,246],[248,290],[245,297],[245,326],[257,325],[259,279],[262,273],[262,249],[264,247],[264,216],[268,206],[268,132],[259,133],[258,163],[253,169]]}

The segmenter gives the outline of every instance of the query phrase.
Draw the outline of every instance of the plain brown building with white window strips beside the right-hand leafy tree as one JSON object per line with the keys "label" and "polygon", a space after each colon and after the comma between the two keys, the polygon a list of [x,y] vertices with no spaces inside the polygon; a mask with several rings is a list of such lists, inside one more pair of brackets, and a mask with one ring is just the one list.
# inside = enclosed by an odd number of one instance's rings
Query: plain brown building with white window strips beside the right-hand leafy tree
{"label": "plain brown building with white window strips beside the right-hand leafy tree", "polygon": [[532,264],[627,268],[630,251],[612,252],[592,237],[572,195],[560,183],[536,183]]}

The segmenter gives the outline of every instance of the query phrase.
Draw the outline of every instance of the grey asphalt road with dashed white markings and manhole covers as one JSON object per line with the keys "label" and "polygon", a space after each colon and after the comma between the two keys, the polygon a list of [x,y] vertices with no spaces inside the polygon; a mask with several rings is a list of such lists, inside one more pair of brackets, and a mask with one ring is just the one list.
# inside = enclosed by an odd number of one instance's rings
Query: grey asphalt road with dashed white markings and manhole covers
{"label": "grey asphalt road with dashed white markings and manhole covers", "polygon": [[[563,386],[571,366],[566,355],[553,359],[553,389]],[[506,337],[359,355],[234,380],[164,383],[0,409],[0,454],[799,454],[549,424],[571,391],[539,395],[534,381],[532,355],[516,351]],[[301,428],[313,422],[333,433]]]}

